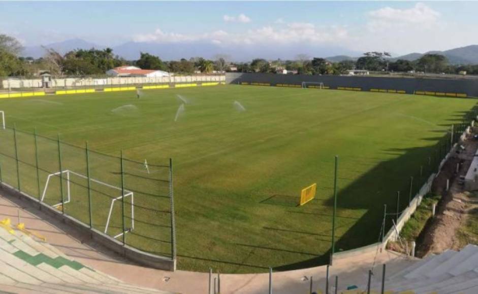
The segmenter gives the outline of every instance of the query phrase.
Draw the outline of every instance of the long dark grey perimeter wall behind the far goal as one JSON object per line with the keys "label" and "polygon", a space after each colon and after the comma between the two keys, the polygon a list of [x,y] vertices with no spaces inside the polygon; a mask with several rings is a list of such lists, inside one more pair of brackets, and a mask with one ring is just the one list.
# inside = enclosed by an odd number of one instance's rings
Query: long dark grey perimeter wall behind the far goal
{"label": "long dark grey perimeter wall behind the far goal", "polygon": [[349,76],[308,76],[308,75],[275,75],[273,73],[226,73],[226,82],[230,84],[269,83],[298,84],[302,82],[322,82],[331,89],[337,87],[370,89],[404,90],[408,94],[415,91],[432,91],[445,93],[464,93],[478,97],[478,81],[426,78],[381,78],[381,77],[349,77]]}

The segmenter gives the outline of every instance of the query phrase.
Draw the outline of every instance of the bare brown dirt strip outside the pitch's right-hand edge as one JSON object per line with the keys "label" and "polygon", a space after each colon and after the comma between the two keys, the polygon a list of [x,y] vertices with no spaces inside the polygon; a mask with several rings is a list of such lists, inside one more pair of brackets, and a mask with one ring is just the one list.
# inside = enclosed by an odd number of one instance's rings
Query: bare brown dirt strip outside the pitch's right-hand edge
{"label": "bare brown dirt strip outside the pitch's right-hand edge", "polygon": [[[472,134],[476,133],[478,128],[475,127]],[[441,253],[446,249],[459,250],[466,245],[463,244],[459,231],[466,223],[467,213],[478,206],[478,201],[475,203],[470,198],[471,194],[463,190],[463,185],[460,185],[458,179],[468,171],[478,148],[478,140],[471,137],[472,135],[462,143],[466,148],[465,151],[451,156],[433,182],[432,192],[441,194],[442,198],[436,207],[435,217],[429,221],[417,240],[419,257]],[[458,173],[456,173],[457,164],[459,164]],[[446,191],[447,179],[450,179],[449,191]]]}

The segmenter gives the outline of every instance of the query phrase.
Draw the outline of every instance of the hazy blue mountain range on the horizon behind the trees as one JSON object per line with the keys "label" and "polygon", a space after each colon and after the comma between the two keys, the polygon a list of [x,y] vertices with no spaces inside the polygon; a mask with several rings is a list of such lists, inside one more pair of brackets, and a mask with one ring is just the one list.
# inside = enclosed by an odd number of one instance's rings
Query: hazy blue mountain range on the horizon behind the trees
{"label": "hazy blue mountain range on the horizon behind the trees", "polygon": [[[81,39],[71,39],[63,42],[47,44],[44,47],[52,48],[60,54],[65,54],[75,49],[104,49],[106,46],[94,44]],[[315,46],[305,45],[297,47],[297,45],[278,45],[278,46],[248,46],[237,45],[225,47],[220,44],[209,42],[190,42],[190,43],[153,43],[153,42],[126,42],[117,46],[113,46],[113,53],[128,60],[139,58],[140,52],[148,52],[153,55],[160,56],[163,60],[177,60],[180,58],[189,59],[190,57],[202,56],[205,58],[213,58],[217,54],[228,55],[234,61],[250,61],[253,58],[265,59],[295,59],[297,54],[305,54],[308,56],[330,56],[327,60],[338,62],[342,60],[357,60],[362,54],[357,51],[348,50],[341,47],[333,46]],[[405,59],[416,60],[424,54],[434,53],[442,54],[448,58],[452,64],[478,64],[478,45],[470,45],[466,47],[454,48],[445,51],[429,51],[426,53],[410,53],[392,60]],[[25,47],[23,56],[31,56],[39,58],[45,54],[42,46]],[[336,55],[332,55],[336,54]],[[337,55],[338,54],[338,55]]]}

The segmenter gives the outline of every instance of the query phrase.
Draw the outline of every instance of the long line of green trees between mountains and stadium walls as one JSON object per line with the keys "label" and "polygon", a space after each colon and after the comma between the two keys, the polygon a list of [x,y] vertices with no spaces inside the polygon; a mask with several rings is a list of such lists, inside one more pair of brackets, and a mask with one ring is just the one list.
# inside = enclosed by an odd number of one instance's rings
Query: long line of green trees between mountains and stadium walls
{"label": "long line of green trees between mountains and stadium walls", "polygon": [[462,73],[478,75],[478,65],[454,65],[439,54],[425,54],[417,60],[392,59],[387,52],[366,52],[356,60],[331,62],[325,58],[310,58],[305,54],[294,60],[253,59],[251,62],[233,63],[227,55],[216,55],[214,60],[195,57],[164,61],[160,57],[140,53],[138,60],[125,60],[106,49],[77,49],[60,54],[45,48],[41,58],[22,57],[22,46],[12,36],[0,34],[0,76],[34,76],[41,71],[52,75],[104,75],[109,69],[121,65],[136,65],[142,69],[158,69],[179,74],[214,71],[269,72],[287,70],[304,75],[343,75],[350,69],[375,72]]}

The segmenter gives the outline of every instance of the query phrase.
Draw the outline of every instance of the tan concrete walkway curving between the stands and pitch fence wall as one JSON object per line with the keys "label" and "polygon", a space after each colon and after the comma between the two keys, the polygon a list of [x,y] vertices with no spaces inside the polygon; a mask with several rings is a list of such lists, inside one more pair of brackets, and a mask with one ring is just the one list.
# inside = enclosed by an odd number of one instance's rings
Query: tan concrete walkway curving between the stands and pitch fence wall
{"label": "tan concrete walkway curving between the stands and pitch fence wall", "polygon": [[[94,243],[89,236],[81,235],[71,227],[49,217],[38,209],[38,205],[27,199],[18,198],[5,190],[0,190],[0,218],[10,217],[12,224],[25,223],[26,229],[46,237],[48,243],[61,250],[76,261],[116,277],[126,283],[180,293],[207,293],[208,273],[162,270],[145,268],[124,260],[107,248]],[[330,285],[339,276],[339,289],[349,285],[363,285],[367,281],[368,270],[375,259],[375,250],[358,252],[349,258],[336,260],[330,268]],[[381,264],[387,263],[387,275],[416,263],[391,251],[376,256],[374,281],[381,278]],[[313,289],[325,292],[326,267],[315,267],[288,272],[274,273],[272,277],[274,293],[308,293],[313,276]],[[214,276],[216,277],[216,276]],[[267,293],[268,274],[224,274],[220,276],[221,293]]]}

